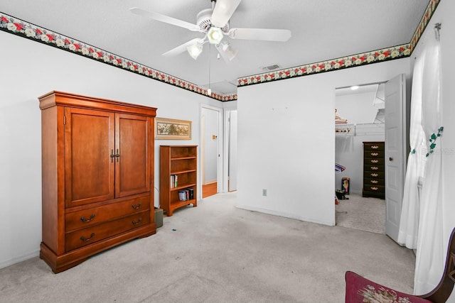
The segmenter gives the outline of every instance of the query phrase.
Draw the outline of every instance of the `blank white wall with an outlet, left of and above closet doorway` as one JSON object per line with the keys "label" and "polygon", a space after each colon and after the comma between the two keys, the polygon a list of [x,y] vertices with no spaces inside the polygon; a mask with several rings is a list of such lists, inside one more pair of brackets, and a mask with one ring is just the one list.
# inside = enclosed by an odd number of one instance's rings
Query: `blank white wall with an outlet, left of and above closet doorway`
{"label": "blank white wall with an outlet, left of and above closet doorway", "polygon": [[335,88],[401,73],[409,58],[239,87],[237,206],[335,224]]}

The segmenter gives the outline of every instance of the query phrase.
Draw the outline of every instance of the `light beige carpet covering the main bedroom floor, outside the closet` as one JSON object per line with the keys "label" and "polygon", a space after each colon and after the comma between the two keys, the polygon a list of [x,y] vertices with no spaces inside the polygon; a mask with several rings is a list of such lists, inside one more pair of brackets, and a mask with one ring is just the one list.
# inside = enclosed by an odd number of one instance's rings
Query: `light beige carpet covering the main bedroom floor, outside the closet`
{"label": "light beige carpet covering the main bedroom floor, outside the closet", "polygon": [[235,201],[205,198],[58,275],[38,257],[3,268],[0,302],[344,302],[346,270],[412,292],[414,253],[389,237]]}

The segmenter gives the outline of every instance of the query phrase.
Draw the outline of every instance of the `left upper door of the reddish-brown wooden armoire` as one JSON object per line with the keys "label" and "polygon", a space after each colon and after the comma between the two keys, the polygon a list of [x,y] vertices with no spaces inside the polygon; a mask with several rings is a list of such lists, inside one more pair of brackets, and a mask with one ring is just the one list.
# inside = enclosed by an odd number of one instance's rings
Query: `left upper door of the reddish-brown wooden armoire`
{"label": "left upper door of the reddish-brown wooden armoire", "polygon": [[114,198],[114,114],[65,108],[65,206]]}

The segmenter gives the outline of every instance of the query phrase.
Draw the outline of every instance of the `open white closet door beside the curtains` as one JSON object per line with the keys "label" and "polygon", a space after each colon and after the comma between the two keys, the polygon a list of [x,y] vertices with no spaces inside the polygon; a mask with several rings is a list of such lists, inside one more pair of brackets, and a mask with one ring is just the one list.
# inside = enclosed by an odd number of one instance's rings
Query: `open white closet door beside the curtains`
{"label": "open white closet door beside the curtains", "polygon": [[385,233],[394,241],[400,228],[406,170],[405,75],[385,84]]}

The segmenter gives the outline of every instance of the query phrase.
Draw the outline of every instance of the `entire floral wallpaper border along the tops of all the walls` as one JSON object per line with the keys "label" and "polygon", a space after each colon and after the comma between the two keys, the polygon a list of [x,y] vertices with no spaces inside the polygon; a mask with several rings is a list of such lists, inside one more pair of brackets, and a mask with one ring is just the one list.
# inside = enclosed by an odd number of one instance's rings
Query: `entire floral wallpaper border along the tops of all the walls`
{"label": "entire floral wallpaper border along the tops of all the walls", "polygon": [[[259,84],[265,82],[276,81],[279,79],[289,79],[292,77],[301,77],[306,75],[314,75],[321,72],[330,72],[334,70],[341,70],[344,68],[357,67],[360,65],[367,65],[377,62],[385,62],[387,60],[400,59],[402,57],[409,57],[417,45],[424,29],[427,27],[430,18],[433,16],[434,11],[441,0],[430,0],[427,9],[422,16],[422,20],[417,26],[412,40],[410,43],[397,45],[390,48],[384,48],[382,50],[373,50],[366,53],[360,53],[357,55],[350,55],[346,57],[339,57],[333,60],[325,60],[321,62],[315,62],[306,65],[300,65],[297,67],[290,67],[282,70],[275,70],[271,72],[264,72],[257,75],[251,75],[247,77],[237,78],[237,87]],[[15,35],[20,35],[23,38],[36,40],[40,43],[45,43],[56,48],[67,50],[77,55],[88,57],[92,60],[97,60],[114,67],[119,67],[129,72],[135,72],[144,77],[156,79],[167,84],[171,84],[176,87],[187,89],[197,94],[216,99],[218,101],[233,101],[237,100],[237,94],[217,94],[212,92],[208,94],[208,89],[200,87],[197,84],[173,77],[159,70],[154,70],[146,65],[141,65],[138,62],[134,62],[124,57],[114,55],[96,48],[93,45],[82,43],[73,38],[66,37],[59,33],[49,31],[48,29],[36,26],[32,23],[22,21],[13,16],[9,16],[6,13],[0,12],[0,31],[6,31]]]}

